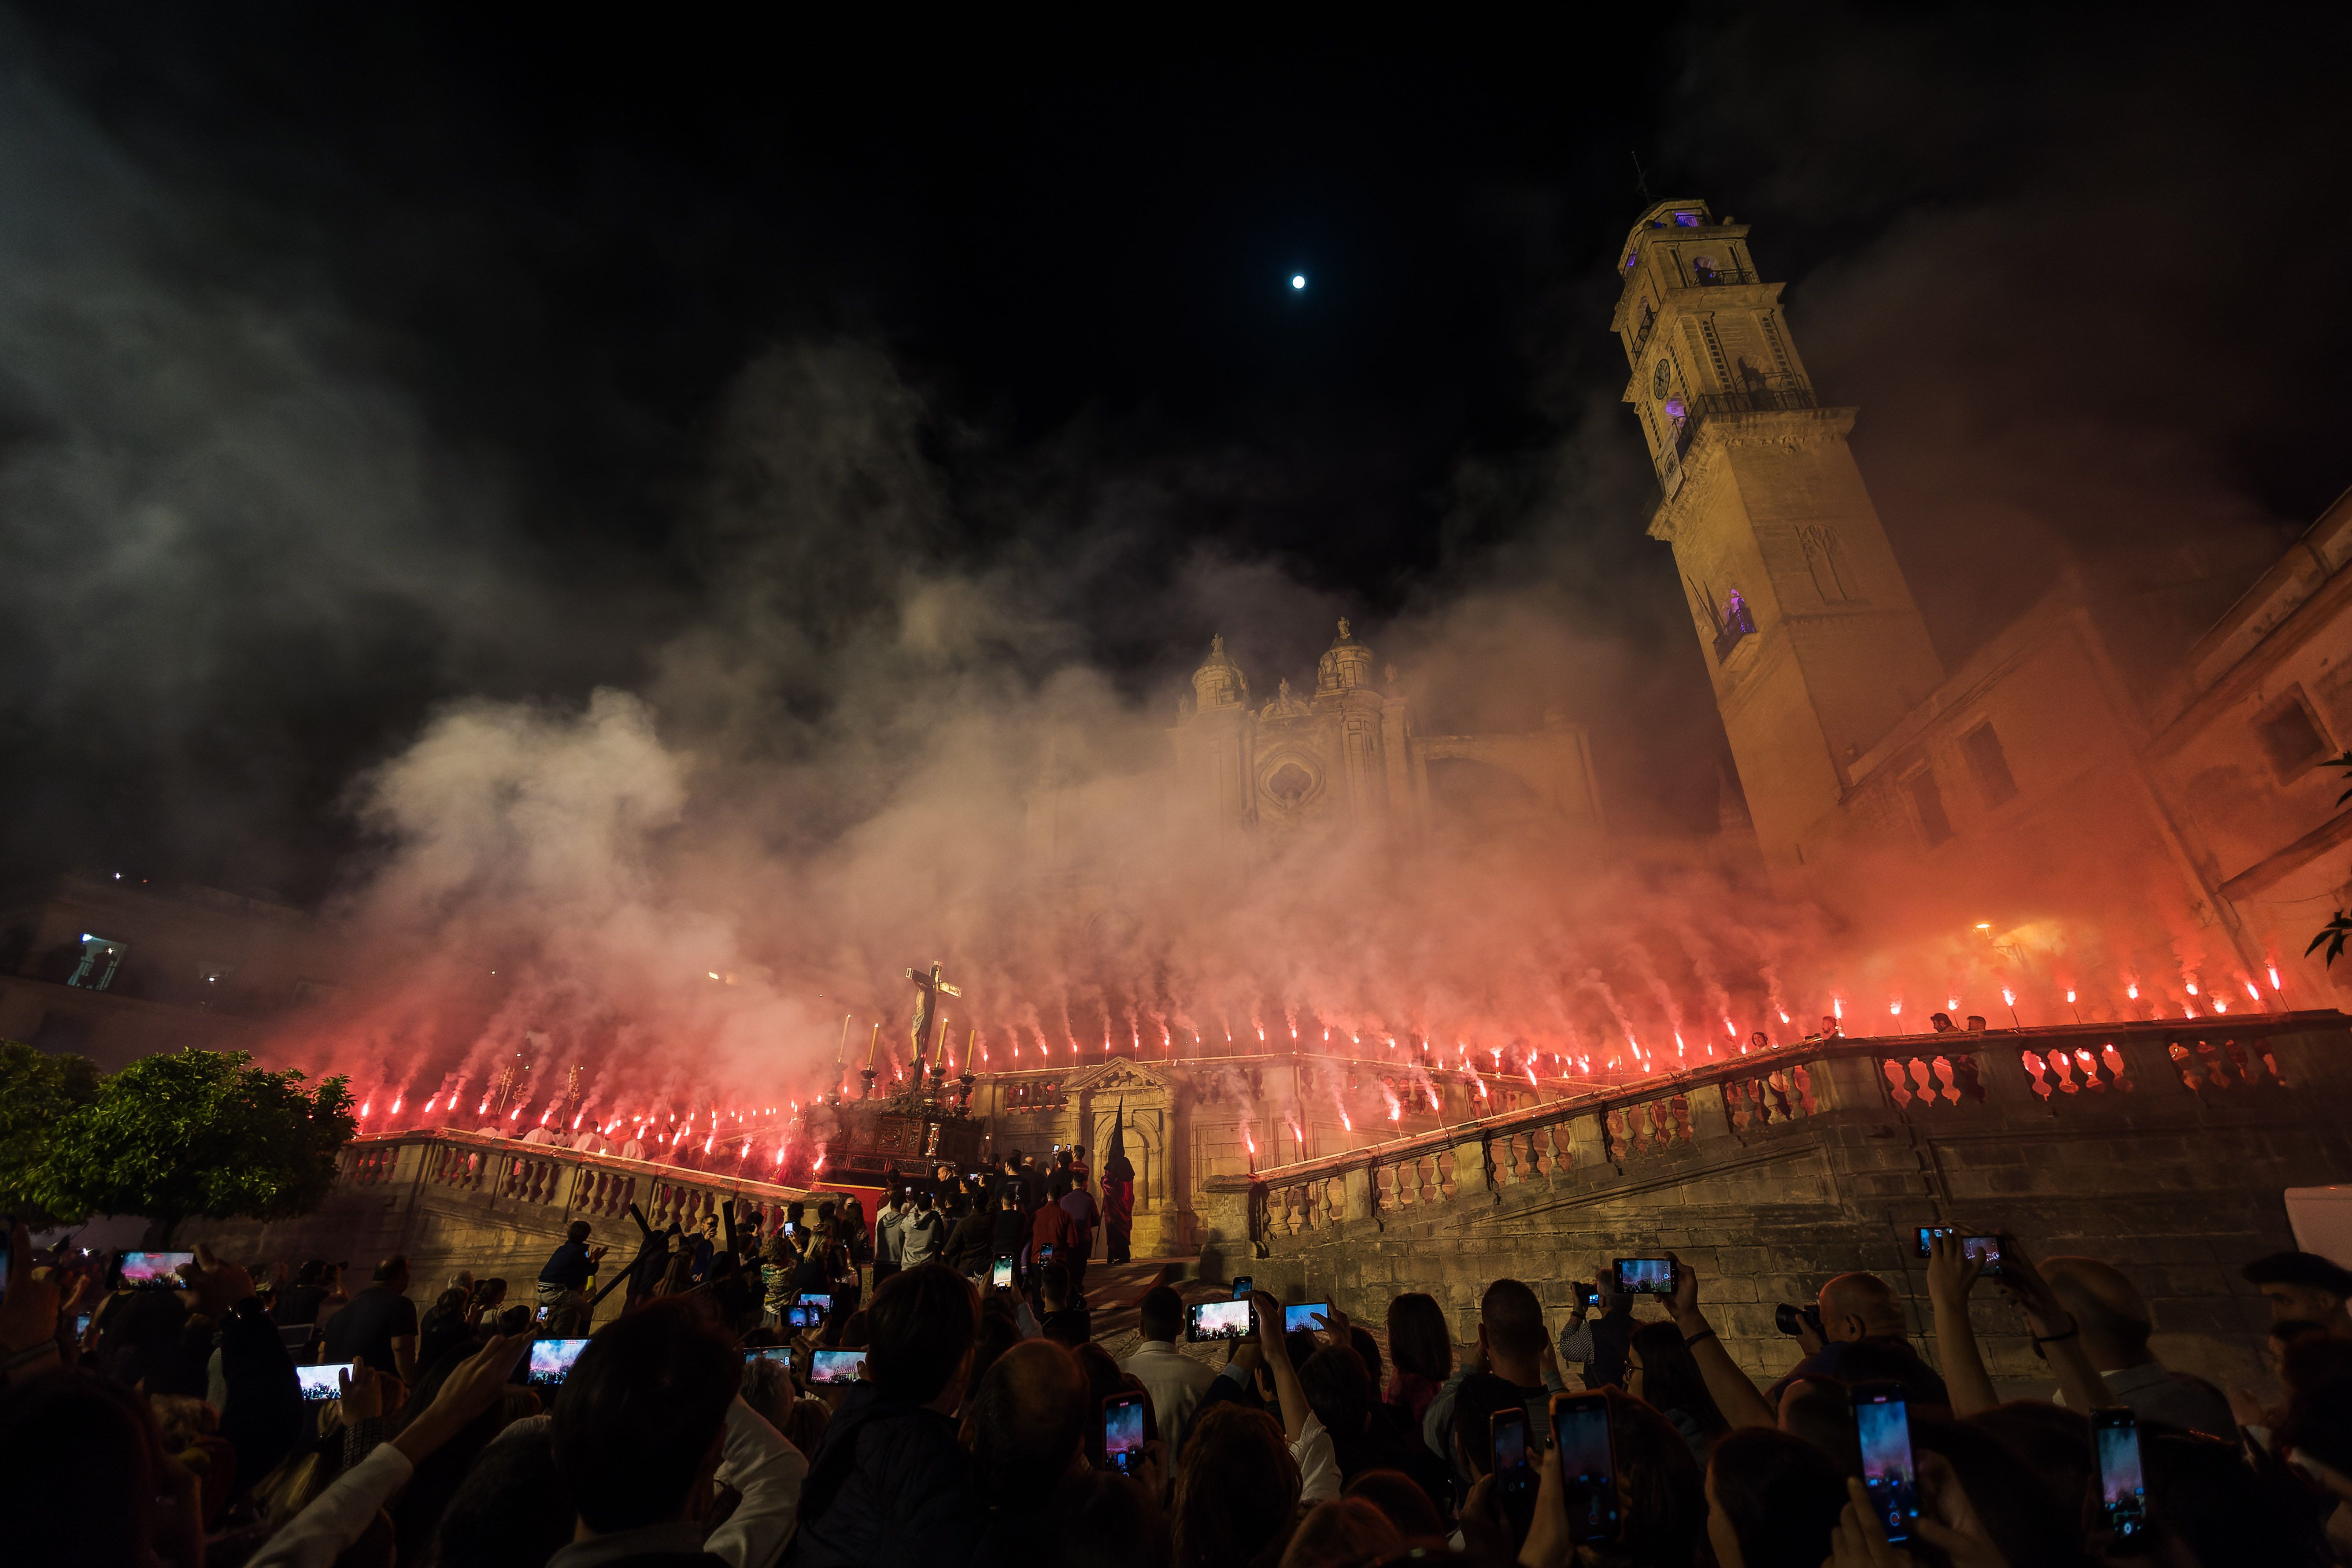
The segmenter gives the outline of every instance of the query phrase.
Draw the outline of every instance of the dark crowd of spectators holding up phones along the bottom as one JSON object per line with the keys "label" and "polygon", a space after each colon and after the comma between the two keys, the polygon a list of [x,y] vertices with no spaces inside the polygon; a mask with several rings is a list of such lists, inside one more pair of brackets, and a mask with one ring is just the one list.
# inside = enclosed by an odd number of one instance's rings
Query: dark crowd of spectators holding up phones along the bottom
{"label": "dark crowd of spectators holding up phones along the bottom", "polygon": [[[607,1248],[574,1225],[536,1300],[459,1276],[423,1312],[402,1258],[348,1288],[200,1248],[183,1288],[108,1288],[16,1227],[0,1540],[172,1568],[2352,1561],[2352,1274],[2317,1255],[2246,1269],[2274,1316],[2265,1399],[2164,1368],[2119,1269],[2004,1237],[1994,1284],[2058,1389],[2004,1399],[1957,1237],[1926,1265],[1933,1363],[1903,1298],[1849,1272],[1785,1309],[1799,1356],[1759,1382],[1670,1255],[1670,1291],[1566,1281],[1557,1321],[1496,1279],[1465,1342],[1430,1295],[1296,1326],[1263,1291],[1244,1338],[1195,1342],[1216,1286],[1089,1298],[1087,1185],[1058,1152],[941,1171],[889,1190],[873,1237],[849,1201],[633,1215],[602,1291]],[[1094,1333],[1112,1305],[1136,1307],[1124,1359]],[[1889,1401],[1917,1519],[1865,1481],[1889,1472],[1858,1410]],[[1578,1418],[1604,1418],[1597,1450],[1550,1441]],[[2124,1512],[2093,1441],[2119,1422]]]}

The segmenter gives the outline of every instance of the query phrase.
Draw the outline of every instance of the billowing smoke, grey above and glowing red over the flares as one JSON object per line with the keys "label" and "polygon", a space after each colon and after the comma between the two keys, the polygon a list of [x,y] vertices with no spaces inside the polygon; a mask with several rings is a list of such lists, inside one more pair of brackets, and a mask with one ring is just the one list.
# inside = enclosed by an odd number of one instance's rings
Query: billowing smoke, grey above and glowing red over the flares
{"label": "billowing smoke, grey above and glowing red over the flares", "polygon": [[[2150,82],[2211,87],[2197,49],[2093,66],[2105,31],[2053,45],[2072,73],[1999,78],[2016,113],[1959,113],[1999,73],[1943,49],[1955,28],[1658,40],[1682,75],[1642,108],[1653,181],[1757,223],[1795,280],[1792,324],[1830,397],[1865,409],[1865,477],[1947,663],[2070,562],[2171,595],[2194,630],[2307,520],[2310,447],[2347,404],[2310,376],[2340,357],[2340,303],[2293,339],[2244,324],[2267,230],[2237,214],[2347,237],[2296,195],[2343,153],[2232,122],[2234,94],[2145,113]],[[1955,113],[1896,113],[1886,82]],[[957,1067],[1263,1037],[1428,1044],[1437,1067],[1548,1091],[1823,1013],[1889,1032],[1938,1009],[2002,1020],[2004,997],[2058,1023],[2274,994],[2161,856],[2067,860],[2056,835],[1976,886],[1860,865],[1790,893],[1712,832],[1722,736],[1672,564],[1642,536],[1656,489],[1606,336],[1635,207],[1616,141],[1468,181],[1449,221],[1519,280],[1494,329],[1515,414],[1421,484],[1416,543],[1374,548],[1348,522],[1251,534],[1261,512],[1296,522],[1331,470],[1385,473],[1378,433],[1317,435],[1345,411],[1324,393],[1272,381],[1225,425],[1077,400],[1040,433],[990,409],[990,364],[941,369],[922,331],[856,310],[764,310],[764,341],[684,416],[548,371],[553,411],[586,428],[515,456],[496,435],[520,447],[529,421],[452,390],[482,364],[353,303],[358,240],[223,197],[238,158],[179,167],[155,139],[38,71],[0,87],[19,585],[0,635],[7,724],[38,759],[12,851],[87,860],[136,816],[143,849],[327,886],[343,997],[270,1053],[353,1074],[372,1126],[452,1103],[470,1124],[517,1053],[534,1088],[508,1117],[550,1114],[579,1065],[581,1119],[781,1126],[774,1107],[840,1081],[844,1020],[847,1070],[875,1025],[903,1063],[898,976],[929,959],[964,987]],[[2230,155],[2253,141],[2307,158]],[[419,226],[416,266],[480,244],[461,228]],[[452,270],[527,275],[522,252]],[[574,454],[604,473],[607,442],[673,456],[614,512],[546,480]],[[647,515],[654,548],[633,536]],[[1209,635],[1263,693],[1310,679],[1336,614],[1423,724],[1585,724],[1609,842],[1477,816],[1428,842],[1195,832],[1164,792],[1164,729]],[[1096,809],[1075,870],[1033,853],[1049,776]],[[336,835],[315,823],[346,832],[325,877]],[[2020,882],[2044,893],[2002,893]]]}

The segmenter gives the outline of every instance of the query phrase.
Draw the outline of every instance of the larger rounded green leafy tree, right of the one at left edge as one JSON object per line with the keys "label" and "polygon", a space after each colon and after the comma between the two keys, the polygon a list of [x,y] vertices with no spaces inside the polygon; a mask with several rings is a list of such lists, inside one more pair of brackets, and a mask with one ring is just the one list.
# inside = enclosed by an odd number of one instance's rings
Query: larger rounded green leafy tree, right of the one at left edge
{"label": "larger rounded green leafy tree, right of the one at left edge", "polygon": [[358,1131],[346,1079],[247,1067],[245,1051],[148,1056],[49,1131],[33,1197],[61,1215],[141,1213],[165,1241],[188,1215],[308,1213]]}

